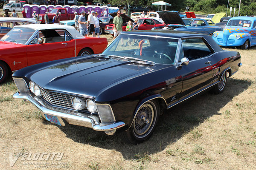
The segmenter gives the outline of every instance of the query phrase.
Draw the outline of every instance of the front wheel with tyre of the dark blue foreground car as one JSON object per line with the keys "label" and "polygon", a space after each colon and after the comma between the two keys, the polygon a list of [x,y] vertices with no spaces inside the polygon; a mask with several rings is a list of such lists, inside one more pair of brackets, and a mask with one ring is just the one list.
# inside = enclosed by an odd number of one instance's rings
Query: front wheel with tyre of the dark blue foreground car
{"label": "front wheel with tyre of the dark blue foreground car", "polygon": [[159,119],[159,104],[148,101],[140,106],[131,127],[122,132],[122,138],[132,144],[144,142],[153,133]]}

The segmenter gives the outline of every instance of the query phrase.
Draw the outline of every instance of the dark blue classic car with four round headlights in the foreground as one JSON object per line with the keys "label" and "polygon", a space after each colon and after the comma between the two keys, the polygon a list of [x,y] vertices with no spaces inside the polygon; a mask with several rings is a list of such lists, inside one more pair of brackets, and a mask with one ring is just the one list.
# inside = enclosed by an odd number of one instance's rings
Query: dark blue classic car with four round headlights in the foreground
{"label": "dark blue classic car with four round headlights in the foreground", "polygon": [[103,51],[32,65],[13,74],[15,99],[31,102],[58,125],[148,139],[166,109],[209,88],[224,91],[240,54],[212,37],[172,30],[127,31]]}

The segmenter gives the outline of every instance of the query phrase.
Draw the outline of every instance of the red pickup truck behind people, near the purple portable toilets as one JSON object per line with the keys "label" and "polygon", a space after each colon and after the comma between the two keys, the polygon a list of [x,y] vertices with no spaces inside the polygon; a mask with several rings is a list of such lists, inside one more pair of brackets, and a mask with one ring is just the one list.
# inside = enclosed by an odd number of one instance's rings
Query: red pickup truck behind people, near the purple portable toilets
{"label": "red pickup truck behind people, near the purple portable toilets", "polygon": [[[49,14],[48,14],[49,22],[50,23],[52,23],[52,19],[56,15],[56,13],[59,13],[59,12],[61,12],[60,21],[63,21],[63,20],[73,20],[74,17],[75,17],[74,14],[68,14],[66,8],[53,8],[52,11],[50,11]],[[45,14],[38,14],[38,20],[41,23],[45,23],[44,15]]]}

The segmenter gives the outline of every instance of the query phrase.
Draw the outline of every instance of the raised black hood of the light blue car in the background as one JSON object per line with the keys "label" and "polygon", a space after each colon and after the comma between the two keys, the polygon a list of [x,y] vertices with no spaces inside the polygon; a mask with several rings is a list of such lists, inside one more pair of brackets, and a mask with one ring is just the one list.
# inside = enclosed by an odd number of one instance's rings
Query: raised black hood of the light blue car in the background
{"label": "raised black hood of the light blue car in the background", "polygon": [[171,11],[157,11],[157,13],[162,18],[163,22],[166,25],[169,24],[181,24],[186,26],[186,24],[181,19],[180,15],[177,12],[171,12]]}

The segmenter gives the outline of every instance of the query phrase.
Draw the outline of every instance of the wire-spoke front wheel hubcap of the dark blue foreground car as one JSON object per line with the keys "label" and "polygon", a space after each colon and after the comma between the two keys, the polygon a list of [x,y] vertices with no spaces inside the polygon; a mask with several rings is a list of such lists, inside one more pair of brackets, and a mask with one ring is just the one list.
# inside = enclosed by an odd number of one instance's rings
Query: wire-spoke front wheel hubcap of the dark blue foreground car
{"label": "wire-spoke front wheel hubcap of the dark blue foreground car", "polygon": [[154,122],[154,114],[154,108],[148,103],[140,108],[133,124],[137,137],[143,137],[145,133],[150,132],[151,125]]}

